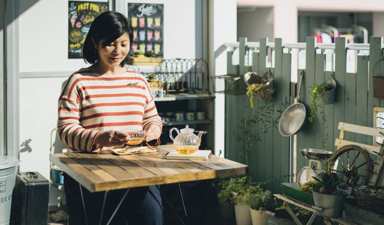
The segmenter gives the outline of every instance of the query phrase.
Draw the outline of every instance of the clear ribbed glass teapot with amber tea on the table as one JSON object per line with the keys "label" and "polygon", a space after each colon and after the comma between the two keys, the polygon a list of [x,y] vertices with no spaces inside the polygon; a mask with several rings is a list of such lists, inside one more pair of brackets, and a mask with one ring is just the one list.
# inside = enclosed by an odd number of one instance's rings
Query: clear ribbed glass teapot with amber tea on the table
{"label": "clear ribbed glass teapot with amber tea on the table", "polygon": [[[172,131],[176,130],[177,136],[172,136]],[[177,152],[180,154],[191,154],[199,149],[201,143],[201,136],[203,131],[200,131],[198,135],[194,134],[194,129],[185,125],[184,129],[177,129],[176,127],[169,130],[169,138],[174,142]]]}

